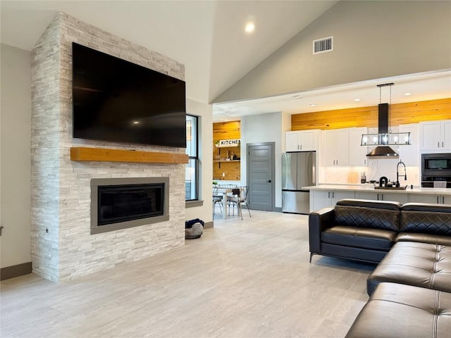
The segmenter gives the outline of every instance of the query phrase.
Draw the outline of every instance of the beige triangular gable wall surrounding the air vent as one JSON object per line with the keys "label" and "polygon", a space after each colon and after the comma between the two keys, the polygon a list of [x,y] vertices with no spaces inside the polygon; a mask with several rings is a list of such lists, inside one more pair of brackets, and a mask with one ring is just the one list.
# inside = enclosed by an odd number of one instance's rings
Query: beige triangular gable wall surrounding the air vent
{"label": "beige triangular gable wall surrounding the air vent", "polygon": [[450,1],[339,1],[214,102],[450,68],[450,17]]}

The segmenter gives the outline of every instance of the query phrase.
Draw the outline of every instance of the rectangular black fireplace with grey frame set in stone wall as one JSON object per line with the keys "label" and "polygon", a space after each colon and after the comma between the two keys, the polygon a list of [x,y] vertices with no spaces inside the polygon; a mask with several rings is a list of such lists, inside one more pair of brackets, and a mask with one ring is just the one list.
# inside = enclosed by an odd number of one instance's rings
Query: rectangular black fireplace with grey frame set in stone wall
{"label": "rectangular black fireplace with grey frame set in stone wall", "polygon": [[168,177],[91,180],[91,234],[168,220]]}

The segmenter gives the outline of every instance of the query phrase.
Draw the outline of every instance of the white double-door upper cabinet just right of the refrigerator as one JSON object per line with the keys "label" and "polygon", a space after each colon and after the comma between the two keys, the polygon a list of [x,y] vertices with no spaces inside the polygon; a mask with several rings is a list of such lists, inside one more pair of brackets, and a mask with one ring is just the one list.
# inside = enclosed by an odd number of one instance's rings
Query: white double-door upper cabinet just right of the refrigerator
{"label": "white double-door upper cabinet just right of the refrigerator", "polygon": [[324,130],[323,165],[346,166],[350,164],[350,130]]}

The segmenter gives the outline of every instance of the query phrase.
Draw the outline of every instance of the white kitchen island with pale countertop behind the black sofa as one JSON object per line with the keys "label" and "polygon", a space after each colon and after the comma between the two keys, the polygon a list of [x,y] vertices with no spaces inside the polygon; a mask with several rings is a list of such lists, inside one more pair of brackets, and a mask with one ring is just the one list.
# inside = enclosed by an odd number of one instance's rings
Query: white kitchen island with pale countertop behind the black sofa
{"label": "white kitchen island with pale countertop behind the black sofa", "polygon": [[451,204],[451,189],[446,188],[407,187],[399,190],[375,189],[373,184],[320,184],[302,189],[310,191],[310,211],[335,206],[340,199]]}

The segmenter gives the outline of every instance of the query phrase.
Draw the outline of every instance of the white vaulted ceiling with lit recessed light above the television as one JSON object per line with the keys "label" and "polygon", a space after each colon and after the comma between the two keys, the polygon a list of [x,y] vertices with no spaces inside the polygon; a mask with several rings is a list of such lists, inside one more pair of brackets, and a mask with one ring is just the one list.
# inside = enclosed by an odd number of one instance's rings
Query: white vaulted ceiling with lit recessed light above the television
{"label": "white vaulted ceiling with lit recessed light above the television", "polygon": [[336,2],[2,0],[1,43],[30,51],[62,11],[185,64],[187,97],[210,102]]}

